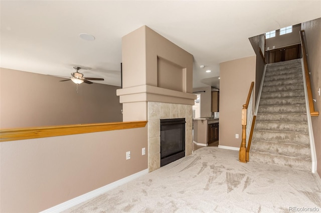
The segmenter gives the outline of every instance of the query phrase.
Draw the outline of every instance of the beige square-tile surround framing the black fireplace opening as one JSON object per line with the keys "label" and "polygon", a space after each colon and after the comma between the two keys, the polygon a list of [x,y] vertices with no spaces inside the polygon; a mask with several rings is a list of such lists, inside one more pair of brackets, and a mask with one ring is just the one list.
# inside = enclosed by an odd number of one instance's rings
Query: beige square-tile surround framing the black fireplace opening
{"label": "beige square-tile surround framing the black fireplace opening", "polygon": [[161,167],[161,119],[185,118],[185,153],[192,153],[192,105],[147,102],[148,108],[148,170]]}

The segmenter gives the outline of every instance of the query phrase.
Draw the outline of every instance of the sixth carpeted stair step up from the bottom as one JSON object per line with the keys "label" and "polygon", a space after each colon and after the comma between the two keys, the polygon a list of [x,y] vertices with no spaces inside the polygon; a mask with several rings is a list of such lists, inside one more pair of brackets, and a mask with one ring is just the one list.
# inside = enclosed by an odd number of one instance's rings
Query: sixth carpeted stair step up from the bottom
{"label": "sixth carpeted stair step up from the bottom", "polygon": [[304,112],[305,104],[260,105],[258,112]]}

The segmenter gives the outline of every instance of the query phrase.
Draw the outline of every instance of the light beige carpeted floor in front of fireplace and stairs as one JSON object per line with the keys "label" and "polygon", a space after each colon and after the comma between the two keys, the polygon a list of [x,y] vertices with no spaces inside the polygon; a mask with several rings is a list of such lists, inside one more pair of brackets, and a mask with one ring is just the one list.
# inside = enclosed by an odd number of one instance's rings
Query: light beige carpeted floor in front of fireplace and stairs
{"label": "light beige carpeted floor in front of fireplace and stairs", "polygon": [[203,147],[65,212],[321,211],[321,185],[306,171],[241,163],[238,151]]}

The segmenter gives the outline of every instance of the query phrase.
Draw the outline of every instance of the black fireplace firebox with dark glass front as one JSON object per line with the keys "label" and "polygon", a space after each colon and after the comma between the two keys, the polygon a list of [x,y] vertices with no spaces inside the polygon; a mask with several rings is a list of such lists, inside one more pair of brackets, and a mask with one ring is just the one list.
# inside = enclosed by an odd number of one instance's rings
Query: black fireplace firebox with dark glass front
{"label": "black fireplace firebox with dark glass front", "polygon": [[161,166],[185,156],[185,118],[161,119]]}

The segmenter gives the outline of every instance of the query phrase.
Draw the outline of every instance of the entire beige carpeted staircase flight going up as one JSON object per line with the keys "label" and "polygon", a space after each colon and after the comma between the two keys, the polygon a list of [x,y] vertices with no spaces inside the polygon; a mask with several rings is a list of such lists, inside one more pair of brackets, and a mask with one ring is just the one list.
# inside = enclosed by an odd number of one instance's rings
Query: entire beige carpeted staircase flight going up
{"label": "entire beige carpeted staircase flight going up", "polygon": [[249,160],[311,171],[301,59],[267,64]]}

